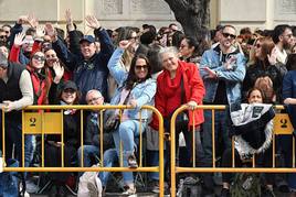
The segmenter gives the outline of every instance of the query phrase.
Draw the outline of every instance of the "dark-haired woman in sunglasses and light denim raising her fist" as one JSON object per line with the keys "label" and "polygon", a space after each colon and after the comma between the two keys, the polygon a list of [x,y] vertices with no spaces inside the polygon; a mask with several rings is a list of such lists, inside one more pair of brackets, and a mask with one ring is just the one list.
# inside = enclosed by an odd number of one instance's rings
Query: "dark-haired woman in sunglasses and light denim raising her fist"
{"label": "dark-haired woman in sunglasses and light denim raising her fist", "polygon": [[[112,105],[129,105],[133,109],[124,110],[121,121],[117,130],[113,132],[114,142],[119,157],[119,142],[123,142],[123,161],[125,167],[137,167],[135,149],[139,132],[144,132],[147,120],[151,113],[140,110],[145,105],[151,105],[156,94],[156,80],[151,78],[151,66],[148,58],[139,54],[135,56],[130,64],[129,72],[120,66],[120,58],[124,51],[133,44],[130,41],[120,41],[119,47],[114,52],[108,63],[110,75],[118,84],[118,88],[112,98]],[[119,111],[115,112],[119,117]],[[124,194],[136,193],[134,176],[131,172],[123,173],[126,190]]]}

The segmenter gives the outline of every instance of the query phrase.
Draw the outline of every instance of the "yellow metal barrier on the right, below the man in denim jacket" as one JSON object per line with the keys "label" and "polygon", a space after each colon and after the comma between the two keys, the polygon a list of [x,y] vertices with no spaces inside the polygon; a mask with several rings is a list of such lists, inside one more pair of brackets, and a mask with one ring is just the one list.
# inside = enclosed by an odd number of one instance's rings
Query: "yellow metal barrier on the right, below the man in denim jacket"
{"label": "yellow metal barrier on the right, below the man in denim jacket", "polygon": [[[215,138],[214,138],[214,112],[215,110],[225,110],[225,106],[198,106],[194,108],[195,109],[203,109],[203,110],[211,110],[212,112],[212,167],[197,167],[195,166],[195,144],[192,143],[192,155],[193,155],[193,162],[192,162],[192,167],[180,167],[176,165],[176,128],[175,128],[175,122],[177,116],[187,110],[186,106],[182,106],[178,108],[175,113],[172,114],[171,122],[170,122],[170,140],[171,140],[171,146],[170,146],[170,155],[171,155],[171,161],[170,161],[170,182],[171,182],[171,197],[176,196],[176,174],[177,173],[296,173],[295,168],[295,139],[293,138],[293,167],[276,167],[275,166],[275,136],[281,135],[281,134],[292,134],[294,131],[292,123],[289,121],[288,114],[287,113],[277,113],[274,118],[274,132],[273,132],[273,167],[255,167],[255,160],[253,155],[253,166],[247,168],[247,167],[234,167],[234,141],[232,138],[232,167],[216,167],[215,166]],[[282,110],[284,109],[283,106],[275,106],[276,110]],[[194,113],[193,113],[194,116]],[[194,120],[194,117],[193,117]],[[194,125],[194,122],[193,122]],[[192,129],[193,131],[193,138],[192,142],[195,142],[195,136],[194,136],[194,127]],[[191,132],[191,131],[189,131]],[[190,144],[191,145],[191,144]]]}

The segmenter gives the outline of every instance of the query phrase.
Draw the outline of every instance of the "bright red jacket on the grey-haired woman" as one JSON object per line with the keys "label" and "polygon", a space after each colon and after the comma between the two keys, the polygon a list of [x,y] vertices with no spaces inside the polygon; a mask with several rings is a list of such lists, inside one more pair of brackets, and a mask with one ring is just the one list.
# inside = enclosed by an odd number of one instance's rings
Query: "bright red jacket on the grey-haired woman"
{"label": "bright red jacket on the grey-haired woman", "polygon": [[[195,101],[198,105],[202,105],[203,97],[205,95],[205,89],[203,86],[202,78],[200,77],[199,68],[195,64],[186,63],[179,61],[178,70],[181,72],[183,79],[183,87],[186,94],[186,102]],[[171,99],[168,96],[170,91],[167,84],[168,70],[162,72],[157,78],[157,92],[155,98],[155,107],[160,111],[163,118],[169,117],[175,111],[175,107],[180,107],[181,94],[179,99]],[[181,87],[181,84],[179,85]],[[178,91],[179,92],[179,91]],[[177,94],[178,97],[179,94]],[[176,94],[173,95],[176,97]],[[177,106],[176,106],[177,105]],[[171,107],[175,106],[175,107]],[[175,109],[177,109],[175,108]],[[199,125],[204,121],[203,110],[194,110],[194,124]],[[193,111],[189,110],[189,125],[193,125]],[[154,114],[151,127],[158,130],[158,118]]]}

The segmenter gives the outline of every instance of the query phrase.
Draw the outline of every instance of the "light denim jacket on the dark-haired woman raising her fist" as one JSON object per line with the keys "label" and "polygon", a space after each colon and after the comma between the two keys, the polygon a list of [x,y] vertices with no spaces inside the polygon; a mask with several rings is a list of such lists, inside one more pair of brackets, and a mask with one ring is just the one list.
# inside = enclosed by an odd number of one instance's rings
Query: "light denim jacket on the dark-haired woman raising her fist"
{"label": "light denim jacket on the dark-haired woman raising her fist", "polygon": [[[128,76],[128,72],[126,72],[120,66],[120,58],[123,56],[124,50],[117,48],[108,63],[108,68],[110,72],[110,75],[114,77],[116,83],[118,84],[118,88],[115,91],[114,97],[110,100],[110,105],[118,105],[120,100],[120,94],[125,86],[125,81]],[[137,107],[135,109],[129,109],[127,111],[129,119],[139,119],[139,110],[142,106],[149,105],[152,106],[154,103],[154,97],[156,94],[156,80],[152,78],[149,78],[145,80],[144,83],[137,84],[130,92],[129,98],[137,100]],[[141,119],[149,119],[151,116],[151,112],[148,110],[141,110]]]}

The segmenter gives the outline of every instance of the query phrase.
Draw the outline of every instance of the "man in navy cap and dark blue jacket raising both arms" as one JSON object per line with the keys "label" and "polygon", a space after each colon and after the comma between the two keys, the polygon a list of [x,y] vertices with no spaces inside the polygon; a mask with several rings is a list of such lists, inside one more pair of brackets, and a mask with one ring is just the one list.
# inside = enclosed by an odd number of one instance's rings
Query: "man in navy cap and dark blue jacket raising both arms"
{"label": "man in navy cap and dark blue jacket raising both arms", "polygon": [[99,90],[104,98],[108,100],[107,64],[114,51],[108,33],[102,29],[95,17],[86,17],[86,24],[94,29],[95,36],[99,39],[99,53],[96,53],[95,37],[85,35],[80,40],[77,31],[74,30],[73,22],[68,24],[71,50],[67,50],[65,44],[61,40],[57,40],[55,34],[53,36],[51,35],[53,48],[56,51],[57,56],[70,69],[74,70],[74,81],[82,92],[82,103],[86,103],[85,96],[91,89]]}

